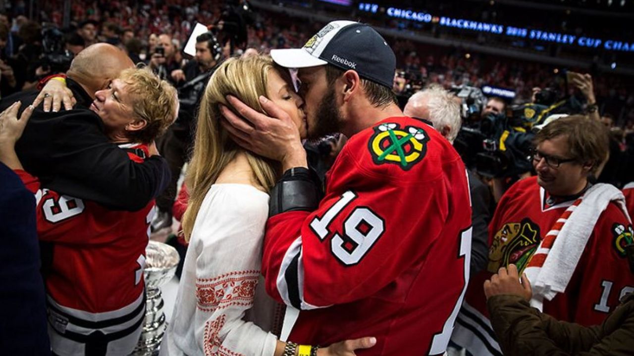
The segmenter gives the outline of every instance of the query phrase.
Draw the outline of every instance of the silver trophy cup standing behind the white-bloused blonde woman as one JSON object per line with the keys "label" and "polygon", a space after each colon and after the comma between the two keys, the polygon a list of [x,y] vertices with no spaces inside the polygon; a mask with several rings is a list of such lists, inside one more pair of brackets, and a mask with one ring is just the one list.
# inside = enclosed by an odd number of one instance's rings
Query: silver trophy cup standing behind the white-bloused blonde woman
{"label": "silver trophy cup standing behind the white-bloused blonde woman", "polygon": [[163,312],[161,286],[174,277],[180,260],[178,252],[172,246],[150,240],[146,248],[146,264],[143,276],[147,303],[145,306],[145,322],[141,338],[132,356],[154,356],[159,354],[159,345],[167,324]]}

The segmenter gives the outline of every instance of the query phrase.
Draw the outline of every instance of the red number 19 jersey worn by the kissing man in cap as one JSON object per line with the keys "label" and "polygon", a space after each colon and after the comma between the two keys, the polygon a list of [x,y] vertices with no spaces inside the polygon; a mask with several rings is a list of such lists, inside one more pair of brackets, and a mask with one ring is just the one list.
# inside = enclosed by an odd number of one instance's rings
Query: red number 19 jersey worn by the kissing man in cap
{"label": "red number 19 jersey worn by the kissing man in cap", "polygon": [[301,309],[288,340],[375,336],[359,355],[443,353],[469,276],[460,156],[429,125],[387,118],[349,139],[325,193],[314,212],[268,220],[266,287]]}

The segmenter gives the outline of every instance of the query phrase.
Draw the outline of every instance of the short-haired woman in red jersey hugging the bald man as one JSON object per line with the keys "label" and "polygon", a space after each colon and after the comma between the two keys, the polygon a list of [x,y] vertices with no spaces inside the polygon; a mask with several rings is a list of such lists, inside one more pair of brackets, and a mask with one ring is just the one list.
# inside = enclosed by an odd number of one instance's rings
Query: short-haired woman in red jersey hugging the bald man
{"label": "short-haired woman in red jersey hugging the bald man", "polygon": [[[60,356],[127,355],[145,316],[143,268],[154,202],[124,212],[42,187],[15,155],[15,141],[32,112],[25,110],[18,121],[18,107],[3,113],[3,124],[16,129],[0,136],[0,160],[36,194],[39,238],[54,246],[45,276],[51,348]],[[148,143],[174,122],[177,108],[175,89],[143,69],[122,72],[96,92],[91,106],[111,141],[134,162],[157,154]]]}

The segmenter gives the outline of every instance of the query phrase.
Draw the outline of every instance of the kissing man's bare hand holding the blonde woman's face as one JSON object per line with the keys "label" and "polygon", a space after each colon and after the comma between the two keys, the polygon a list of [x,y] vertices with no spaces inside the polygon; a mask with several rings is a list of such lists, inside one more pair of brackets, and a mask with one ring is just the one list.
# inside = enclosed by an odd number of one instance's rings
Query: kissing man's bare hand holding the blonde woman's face
{"label": "kissing man's bare hand holding the blonde woman's face", "polygon": [[223,127],[242,148],[281,162],[283,170],[307,167],[299,130],[290,116],[264,96],[259,99],[266,115],[253,110],[234,96],[227,96],[227,101],[237,115],[221,105],[221,113],[225,118],[221,120]]}

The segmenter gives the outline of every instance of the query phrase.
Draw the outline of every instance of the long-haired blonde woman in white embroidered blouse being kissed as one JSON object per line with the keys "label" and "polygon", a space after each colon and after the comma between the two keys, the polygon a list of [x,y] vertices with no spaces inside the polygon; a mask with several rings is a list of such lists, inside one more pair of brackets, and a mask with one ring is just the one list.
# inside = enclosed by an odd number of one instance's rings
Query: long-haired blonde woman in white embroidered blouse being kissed
{"label": "long-haired blonde woman in white embroidered blouse being kissed", "polygon": [[[291,343],[271,333],[281,322],[281,308],[258,283],[268,191],[278,167],[240,148],[220,125],[219,105],[226,105],[229,94],[262,112],[258,98],[268,97],[306,134],[303,101],[288,73],[268,56],[231,58],[210,78],[186,179],[190,199],[183,231],[189,248],[162,355],[295,354]],[[319,348],[317,355],[354,355],[354,348],[372,345],[370,339]]]}

